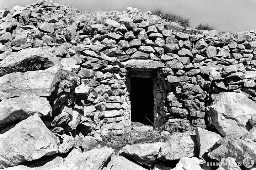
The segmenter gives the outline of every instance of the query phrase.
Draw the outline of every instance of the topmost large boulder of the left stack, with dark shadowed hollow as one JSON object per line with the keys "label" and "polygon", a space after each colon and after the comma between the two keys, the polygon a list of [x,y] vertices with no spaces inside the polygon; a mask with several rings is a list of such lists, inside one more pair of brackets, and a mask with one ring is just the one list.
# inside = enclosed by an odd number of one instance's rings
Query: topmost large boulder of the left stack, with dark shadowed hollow
{"label": "topmost large boulder of the left stack, with dark shadowed hollow", "polygon": [[62,66],[58,58],[43,47],[12,52],[0,62],[0,77],[14,72],[42,70],[54,65]]}

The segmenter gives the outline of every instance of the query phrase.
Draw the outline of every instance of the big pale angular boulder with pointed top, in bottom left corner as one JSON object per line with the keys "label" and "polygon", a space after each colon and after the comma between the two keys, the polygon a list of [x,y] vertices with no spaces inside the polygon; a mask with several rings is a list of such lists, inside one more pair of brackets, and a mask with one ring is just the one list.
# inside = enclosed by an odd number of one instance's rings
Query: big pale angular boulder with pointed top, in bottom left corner
{"label": "big pale angular boulder with pointed top, in bottom left corner", "polygon": [[38,114],[30,116],[0,134],[0,168],[53,155],[58,152],[57,141]]}

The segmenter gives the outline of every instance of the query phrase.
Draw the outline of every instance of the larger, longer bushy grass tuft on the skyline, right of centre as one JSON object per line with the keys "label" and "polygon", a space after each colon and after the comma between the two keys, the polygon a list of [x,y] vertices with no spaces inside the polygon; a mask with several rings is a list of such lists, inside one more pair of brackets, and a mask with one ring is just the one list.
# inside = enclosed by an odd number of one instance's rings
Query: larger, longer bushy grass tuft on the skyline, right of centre
{"label": "larger, longer bushy grass tuft on the skyline, right of centre", "polygon": [[181,15],[175,15],[171,12],[165,12],[161,9],[156,9],[152,11],[153,15],[156,15],[162,19],[165,19],[166,22],[174,22],[174,23],[178,23],[180,26],[182,27],[190,27],[190,19],[187,17],[183,17]]}

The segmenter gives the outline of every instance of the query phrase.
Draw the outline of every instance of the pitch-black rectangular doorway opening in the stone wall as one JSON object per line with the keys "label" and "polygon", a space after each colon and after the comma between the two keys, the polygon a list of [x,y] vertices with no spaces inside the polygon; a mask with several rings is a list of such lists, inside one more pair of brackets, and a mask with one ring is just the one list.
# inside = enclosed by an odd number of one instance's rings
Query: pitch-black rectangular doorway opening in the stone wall
{"label": "pitch-black rectangular doorway opening in the stone wall", "polygon": [[152,78],[131,79],[131,118],[145,125],[154,124],[154,94]]}

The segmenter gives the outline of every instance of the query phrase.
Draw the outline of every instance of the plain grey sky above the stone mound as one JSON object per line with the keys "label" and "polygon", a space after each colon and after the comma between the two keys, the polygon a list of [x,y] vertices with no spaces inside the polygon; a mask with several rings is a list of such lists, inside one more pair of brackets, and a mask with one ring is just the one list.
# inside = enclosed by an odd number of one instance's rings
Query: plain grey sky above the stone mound
{"label": "plain grey sky above the stone mound", "polygon": [[[37,0],[0,0],[0,10],[15,5],[26,6]],[[124,11],[126,7],[146,12],[160,8],[190,18],[192,28],[208,23],[218,31],[240,32],[256,29],[256,0],[53,0],[80,11],[99,8]]]}

